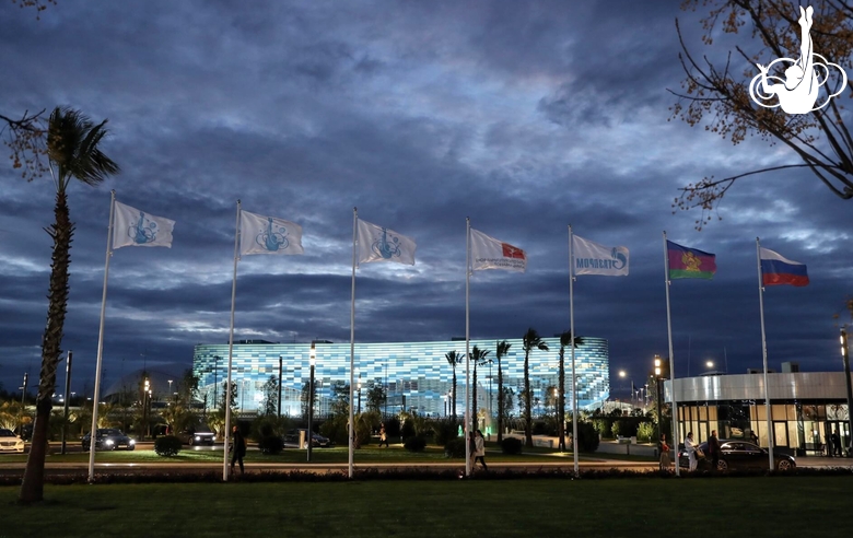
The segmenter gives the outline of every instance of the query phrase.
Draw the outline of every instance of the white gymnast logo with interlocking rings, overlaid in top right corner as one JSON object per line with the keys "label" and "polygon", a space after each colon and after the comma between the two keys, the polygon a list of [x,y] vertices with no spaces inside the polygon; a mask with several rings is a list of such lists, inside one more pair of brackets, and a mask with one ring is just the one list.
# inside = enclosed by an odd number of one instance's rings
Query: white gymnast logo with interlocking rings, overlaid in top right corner
{"label": "white gymnast logo with interlocking rings, overlaid in top right corner", "polygon": [[[767,67],[756,63],[761,72],[749,83],[749,96],[759,106],[764,108],[780,106],[787,114],[808,114],[827,106],[832,97],[838,96],[846,87],[848,74],[844,70],[813,50],[811,36],[809,34],[813,24],[813,13],[814,9],[810,5],[805,11],[802,7],[799,8],[799,20],[797,21],[802,32],[799,59],[779,58]],[[770,69],[776,63],[791,63],[785,69],[784,80],[780,77],[768,75]],[[834,80],[834,87],[830,90],[828,86],[826,101],[818,103],[820,87],[830,80]],[[771,83],[771,81],[774,83]],[[778,103],[774,103],[774,95],[779,97]]]}

